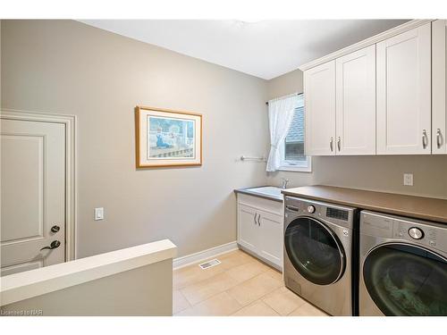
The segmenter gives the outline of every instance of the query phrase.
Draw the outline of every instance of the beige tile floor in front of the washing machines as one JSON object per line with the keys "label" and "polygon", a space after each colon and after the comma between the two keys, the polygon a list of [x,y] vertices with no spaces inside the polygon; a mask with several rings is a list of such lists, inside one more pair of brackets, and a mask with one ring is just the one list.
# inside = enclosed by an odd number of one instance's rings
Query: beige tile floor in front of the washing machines
{"label": "beige tile floor in front of the washing machines", "polygon": [[283,284],[281,272],[235,250],[206,270],[173,272],[173,314],[179,316],[325,316]]}

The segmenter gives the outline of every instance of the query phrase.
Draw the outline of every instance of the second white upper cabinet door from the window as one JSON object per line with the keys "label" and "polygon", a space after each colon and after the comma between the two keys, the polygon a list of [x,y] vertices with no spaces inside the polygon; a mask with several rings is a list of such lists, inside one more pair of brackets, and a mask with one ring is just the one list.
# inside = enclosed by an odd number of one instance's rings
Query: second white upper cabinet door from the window
{"label": "second white upper cabinet door from the window", "polygon": [[375,155],[375,46],[336,60],[337,155]]}

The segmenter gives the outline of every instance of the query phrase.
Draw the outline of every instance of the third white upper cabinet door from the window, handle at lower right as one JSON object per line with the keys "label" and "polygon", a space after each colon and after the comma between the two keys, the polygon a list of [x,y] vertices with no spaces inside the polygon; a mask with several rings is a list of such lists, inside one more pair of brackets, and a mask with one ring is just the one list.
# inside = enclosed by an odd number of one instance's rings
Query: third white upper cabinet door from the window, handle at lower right
{"label": "third white upper cabinet door from the window, handle at lower right", "polygon": [[431,153],[431,25],[377,44],[377,154]]}

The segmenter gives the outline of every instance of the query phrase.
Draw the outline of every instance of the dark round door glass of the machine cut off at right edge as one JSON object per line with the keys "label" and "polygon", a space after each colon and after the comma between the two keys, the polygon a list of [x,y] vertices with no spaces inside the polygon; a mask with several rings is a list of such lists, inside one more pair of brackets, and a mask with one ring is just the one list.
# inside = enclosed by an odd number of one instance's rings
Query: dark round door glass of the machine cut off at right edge
{"label": "dark round door glass of the machine cut off at right edge", "polygon": [[385,315],[447,315],[447,261],[406,244],[377,247],[367,255],[363,278]]}

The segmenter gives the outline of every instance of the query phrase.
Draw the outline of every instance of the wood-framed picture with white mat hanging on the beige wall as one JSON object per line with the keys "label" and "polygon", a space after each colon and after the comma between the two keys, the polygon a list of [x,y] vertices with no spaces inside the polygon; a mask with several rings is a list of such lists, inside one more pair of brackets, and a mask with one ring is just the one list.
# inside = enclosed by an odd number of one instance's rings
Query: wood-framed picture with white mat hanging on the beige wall
{"label": "wood-framed picture with white mat hanging on the beige wall", "polygon": [[135,107],[137,168],[202,164],[202,115]]}

